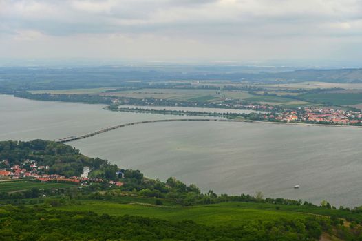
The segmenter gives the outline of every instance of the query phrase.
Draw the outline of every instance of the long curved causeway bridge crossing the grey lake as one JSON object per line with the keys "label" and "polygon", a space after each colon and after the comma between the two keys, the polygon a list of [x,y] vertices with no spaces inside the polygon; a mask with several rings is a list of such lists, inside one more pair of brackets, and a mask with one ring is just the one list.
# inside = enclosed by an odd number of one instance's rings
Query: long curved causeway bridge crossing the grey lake
{"label": "long curved causeway bridge crossing the grey lake", "polygon": [[98,130],[96,132],[90,132],[88,134],[83,134],[81,136],[70,136],[70,137],[66,137],[66,138],[58,139],[58,140],[54,140],[54,141],[56,143],[68,143],[70,141],[89,138],[89,137],[96,136],[96,135],[104,133],[104,132],[109,132],[111,130],[119,129],[119,128],[122,128],[122,127],[127,127],[127,126],[130,126],[130,125],[140,125],[140,124],[146,124],[146,123],[170,122],[170,121],[224,121],[224,122],[237,122],[237,120],[208,119],[208,118],[200,118],[200,119],[197,119],[197,118],[195,118],[195,119],[192,119],[192,118],[188,118],[188,119],[163,119],[163,120],[153,120],[153,121],[137,121],[137,122],[125,123],[125,124],[122,124],[122,125],[115,125],[115,126],[112,126],[112,127],[103,128],[103,129],[100,129],[100,130]]}

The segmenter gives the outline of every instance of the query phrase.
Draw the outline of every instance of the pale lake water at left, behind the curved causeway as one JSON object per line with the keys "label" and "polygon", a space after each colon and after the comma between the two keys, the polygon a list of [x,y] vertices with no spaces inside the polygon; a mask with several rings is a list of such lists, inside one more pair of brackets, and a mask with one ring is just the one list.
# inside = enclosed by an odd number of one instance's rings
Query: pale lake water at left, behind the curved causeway
{"label": "pale lake water at left, behind the curved causeway", "polygon": [[185,118],[162,114],[111,112],[103,107],[105,105],[32,101],[0,95],[0,140],[55,140],[134,121]]}

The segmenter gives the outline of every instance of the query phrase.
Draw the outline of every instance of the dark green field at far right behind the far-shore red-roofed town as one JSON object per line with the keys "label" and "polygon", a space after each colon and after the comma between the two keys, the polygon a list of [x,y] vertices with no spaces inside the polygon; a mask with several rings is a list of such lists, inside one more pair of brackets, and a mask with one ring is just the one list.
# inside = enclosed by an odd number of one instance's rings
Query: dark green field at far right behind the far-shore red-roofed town
{"label": "dark green field at far right behind the far-shore red-roofed town", "polygon": [[319,93],[300,96],[307,101],[332,103],[333,105],[356,105],[362,103],[362,94],[356,93]]}

